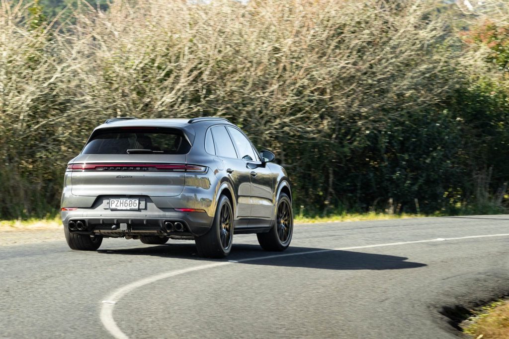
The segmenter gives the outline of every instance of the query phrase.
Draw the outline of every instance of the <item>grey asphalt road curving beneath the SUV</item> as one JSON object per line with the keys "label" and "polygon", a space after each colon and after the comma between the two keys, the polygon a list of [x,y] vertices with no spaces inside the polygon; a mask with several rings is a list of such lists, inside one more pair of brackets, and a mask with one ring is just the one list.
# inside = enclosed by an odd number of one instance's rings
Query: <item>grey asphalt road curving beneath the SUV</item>
{"label": "grey asphalt road curving beneath the SUV", "polygon": [[457,338],[448,317],[509,293],[508,233],[509,215],[296,225],[282,256],[237,235],[228,261],[62,232],[0,247],[0,337]]}

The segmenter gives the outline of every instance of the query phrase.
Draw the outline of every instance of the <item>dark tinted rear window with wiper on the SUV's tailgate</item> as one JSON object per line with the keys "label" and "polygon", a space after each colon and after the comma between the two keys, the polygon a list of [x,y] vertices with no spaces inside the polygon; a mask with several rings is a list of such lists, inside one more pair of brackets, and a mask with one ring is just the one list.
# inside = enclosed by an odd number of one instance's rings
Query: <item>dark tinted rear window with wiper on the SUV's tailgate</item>
{"label": "dark tinted rear window with wiper on the SUV's tailgate", "polygon": [[186,154],[191,145],[182,131],[160,128],[121,128],[99,131],[82,154]]}

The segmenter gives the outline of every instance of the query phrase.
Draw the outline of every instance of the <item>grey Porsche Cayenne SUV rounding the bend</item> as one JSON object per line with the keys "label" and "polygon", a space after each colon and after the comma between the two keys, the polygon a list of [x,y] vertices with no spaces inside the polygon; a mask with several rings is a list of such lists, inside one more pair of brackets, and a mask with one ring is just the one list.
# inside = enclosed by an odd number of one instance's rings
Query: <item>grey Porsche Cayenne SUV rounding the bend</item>
{"label": "grey Porsche Cayenne SUV rounding the bend", "polygon": [[273,160],[227,119],[109,119],[68,164],[67,243],[95,251],[103,237],[194,239],[199,255],[219,258],[234,233],[256,233],[263,249],[285,250],[292,194]]}

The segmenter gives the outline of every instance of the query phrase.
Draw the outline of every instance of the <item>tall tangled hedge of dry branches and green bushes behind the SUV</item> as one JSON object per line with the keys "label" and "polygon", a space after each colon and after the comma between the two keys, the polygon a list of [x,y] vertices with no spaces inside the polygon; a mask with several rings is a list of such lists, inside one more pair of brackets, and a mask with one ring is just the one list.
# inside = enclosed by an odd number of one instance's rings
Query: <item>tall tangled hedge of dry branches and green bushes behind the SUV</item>
{"label": "tall tangled hedge of dry branches and green bushes behind the SUV", "polygon": [[0,0],[0,219],[115,116],[229,118],[302,218],[507,210],[507,1],[62,3]]}

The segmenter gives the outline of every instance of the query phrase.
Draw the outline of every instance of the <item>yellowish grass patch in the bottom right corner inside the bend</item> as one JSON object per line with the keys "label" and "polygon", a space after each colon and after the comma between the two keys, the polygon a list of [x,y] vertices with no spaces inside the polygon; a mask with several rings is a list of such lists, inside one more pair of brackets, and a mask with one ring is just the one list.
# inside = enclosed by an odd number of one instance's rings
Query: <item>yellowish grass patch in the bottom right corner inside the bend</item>
{"label": "yellowish grass patch in the bottom right corner inside the bend", "polygon": [[481,307],[462,328],[475,339],[509,339],[509,299]]}

